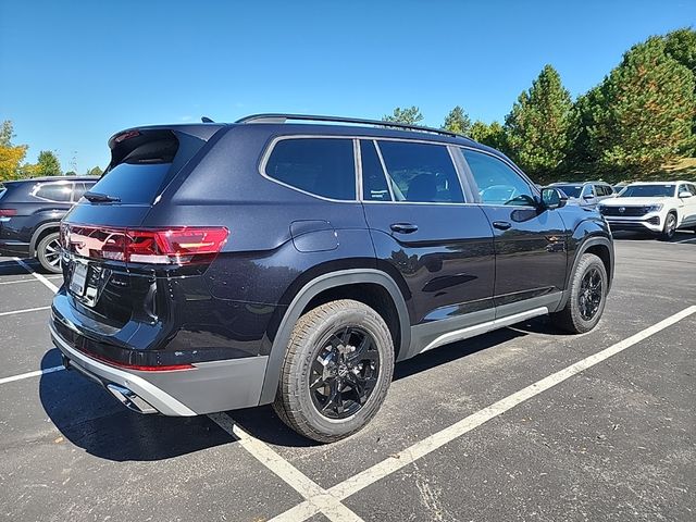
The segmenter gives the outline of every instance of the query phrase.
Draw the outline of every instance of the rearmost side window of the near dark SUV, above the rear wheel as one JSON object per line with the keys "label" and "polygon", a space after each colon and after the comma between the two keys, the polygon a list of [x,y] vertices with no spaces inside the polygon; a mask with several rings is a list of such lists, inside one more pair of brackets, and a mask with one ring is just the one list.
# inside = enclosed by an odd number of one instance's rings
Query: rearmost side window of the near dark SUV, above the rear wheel
{"label": "rearmost side window of the near dark SUV, above the rear wheel", "polygon": [[275,144],[265,164],[265,174],[316,196],[356,199],[351,139],[283,139]]}

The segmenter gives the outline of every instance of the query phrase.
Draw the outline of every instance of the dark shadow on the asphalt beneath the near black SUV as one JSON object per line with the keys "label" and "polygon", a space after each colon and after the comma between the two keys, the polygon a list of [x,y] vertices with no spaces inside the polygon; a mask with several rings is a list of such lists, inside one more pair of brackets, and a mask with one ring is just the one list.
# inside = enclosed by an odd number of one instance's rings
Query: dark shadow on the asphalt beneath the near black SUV
{"label": "dark shadow on the asphalt beneath the near black SUV", "polygon": [[[527,333],[554,333],[550,324],[532,320],[399,362],[394,380],[399,381],[465,358]],[[57,349],[46,353],[41,368],[60,363]],[[85,451],[113,461],[156,461],[228,444],[227,434],[207,415],[169,418],[141,415],[125,409],[111,394],[74,371],[41,376],[41,405],[61,434]],[[287,427],[270,406],[229,411],[227,414],[253,437],[276,446],[310,447],[309,440]]]}

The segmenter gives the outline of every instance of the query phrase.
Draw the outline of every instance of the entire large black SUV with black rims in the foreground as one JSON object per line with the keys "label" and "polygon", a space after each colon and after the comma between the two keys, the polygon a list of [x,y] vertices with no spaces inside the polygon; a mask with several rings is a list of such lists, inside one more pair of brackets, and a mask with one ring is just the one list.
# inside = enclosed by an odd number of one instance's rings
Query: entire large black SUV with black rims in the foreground
{"label": "entire large black SUV with black rims in the foreground", "polygon": [[268,114],[112,137],[61,227],[65,366],[139,412],[272,402],[331,442],[377,412],[395,361],[547,313],[597,324],[598,213],[471,139],[385,125]]}

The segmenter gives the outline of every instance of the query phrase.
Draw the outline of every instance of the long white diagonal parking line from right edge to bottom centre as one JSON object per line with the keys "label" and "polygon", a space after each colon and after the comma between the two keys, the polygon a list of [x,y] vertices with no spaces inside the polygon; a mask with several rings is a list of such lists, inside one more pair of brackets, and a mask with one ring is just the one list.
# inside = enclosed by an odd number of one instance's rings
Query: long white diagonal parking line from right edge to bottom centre
{"label": "long white diagonal parking line from right edge to bottom centre", "polygon": [[[588,370],[589,368],[598,364],[617,353],[630,348],[642,340],[657,334],[658,332],[682,321],[683,319],[696,313],[696,306],[685,308],[681,312],[678,312],[652,326],[649,326],[637,334],[632,335],[608,348],[605,348],[597,353],[594,353],[581,361],[571,364],[551,375],[533,383],[525,388],[515,391],[508,397],[500,399],[497,402],[480,410],[471,415],[462,419],[455,424],[434,433],[433,435],[413,444],[412,446],[399,451],[398,453],[387,457],[382,462],[353,475],[344,482],[336,484],[328,488],[327,493],[338,500],[345,500],[346,498],[355,495],[356,493],[364,489],[365,487],[374,484],[375,482],[399,471],[400,469],[413,463],[418,459],[425,457],[426,455],[443,447],[447,443],[471,432],[475,427],[481,426],[485,422],[495,419],[496,417],[505,413],[506,411],[514,408],[515,406],[524,402],[525,400],[535,397],[543,391],[569,380],[570,377],[577,375],[579,373]],[[288,509],[284,513],[271,519],[271,522],[281,521],[299,521],[307,520],[319,512],[313,504],[313,498],[308,498],[298,506]]]}

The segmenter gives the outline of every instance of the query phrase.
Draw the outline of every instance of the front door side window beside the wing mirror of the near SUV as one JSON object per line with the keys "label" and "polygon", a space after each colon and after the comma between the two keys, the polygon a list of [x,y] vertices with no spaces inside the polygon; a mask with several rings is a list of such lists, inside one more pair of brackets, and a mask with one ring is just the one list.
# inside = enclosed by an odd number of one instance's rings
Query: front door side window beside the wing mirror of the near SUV
{"label": "front door side window beside the wing mirror of the near SUV", "polygon": [[502,161],[483,152],[462,149],[478,186],[481,201],[486,204],[531,206],[534,192],[517,172]]}

